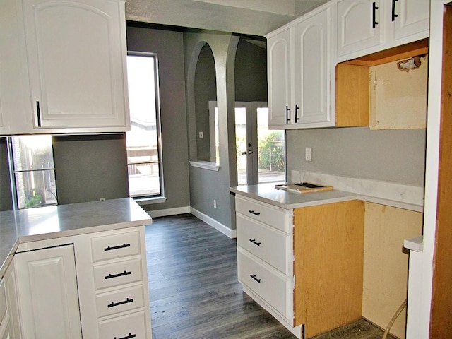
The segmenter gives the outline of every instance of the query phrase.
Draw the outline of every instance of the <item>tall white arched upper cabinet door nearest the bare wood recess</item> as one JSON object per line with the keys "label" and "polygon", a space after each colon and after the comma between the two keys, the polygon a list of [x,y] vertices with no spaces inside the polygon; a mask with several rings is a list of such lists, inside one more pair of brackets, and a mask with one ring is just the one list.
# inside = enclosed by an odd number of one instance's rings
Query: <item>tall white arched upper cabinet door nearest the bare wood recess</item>
{"label": "tall white arched upper cabinet door nearest the bare wood recess", "polygon": [[295,122],[331,121],[331,7],[295,28]]}

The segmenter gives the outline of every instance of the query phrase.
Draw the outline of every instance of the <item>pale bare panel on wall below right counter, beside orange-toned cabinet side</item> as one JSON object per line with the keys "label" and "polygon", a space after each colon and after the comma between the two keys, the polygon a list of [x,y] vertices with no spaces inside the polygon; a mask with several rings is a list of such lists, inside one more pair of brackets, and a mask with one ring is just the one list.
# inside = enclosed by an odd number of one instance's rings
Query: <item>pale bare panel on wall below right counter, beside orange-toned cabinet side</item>
{"label": "pale bare panel on wall below right counter, beside orange-toned cabinet side", "polygon": [[[422,235],[422,213],[365,204],[362,316],[386,328],[407,298],[408,251],[403,239]],[[391,328],[405,338],[406,309]]]}

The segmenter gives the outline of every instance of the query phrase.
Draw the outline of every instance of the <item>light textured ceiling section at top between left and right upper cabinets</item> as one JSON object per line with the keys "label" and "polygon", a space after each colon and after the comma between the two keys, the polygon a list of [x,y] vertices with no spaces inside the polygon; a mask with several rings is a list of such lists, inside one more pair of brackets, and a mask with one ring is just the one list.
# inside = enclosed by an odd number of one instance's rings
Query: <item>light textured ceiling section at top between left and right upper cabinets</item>
{"label": "light textured ceiling section at top between left and right upper cabinets", "polygon": [[126,20],[263,36],[326,1],[126,0]]}

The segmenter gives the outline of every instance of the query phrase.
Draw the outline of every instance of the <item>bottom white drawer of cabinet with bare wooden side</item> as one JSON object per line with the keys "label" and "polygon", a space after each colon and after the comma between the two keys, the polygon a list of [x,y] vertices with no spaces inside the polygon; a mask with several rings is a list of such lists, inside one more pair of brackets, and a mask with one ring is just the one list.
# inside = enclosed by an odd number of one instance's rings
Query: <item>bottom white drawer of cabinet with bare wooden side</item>
{"label": "bottom white drawer of cabinet with bare wooden side", "polygon": [[286,319],[290,319],[293,297],[289,277],[258,263],[241,249],[237,251],[237,267],[240,283],[259,295]]}

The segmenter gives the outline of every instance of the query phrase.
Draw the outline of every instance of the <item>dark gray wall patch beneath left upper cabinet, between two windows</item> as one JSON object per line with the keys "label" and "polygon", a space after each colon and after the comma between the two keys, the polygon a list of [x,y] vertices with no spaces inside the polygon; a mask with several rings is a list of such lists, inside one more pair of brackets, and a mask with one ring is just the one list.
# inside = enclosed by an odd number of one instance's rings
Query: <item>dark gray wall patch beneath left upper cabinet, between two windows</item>
{"label": "dark gray wall patch beneath left upper cabinet, between two windows", "polygon": [[59,205],[129,196],[122,134],[53,136]]}

